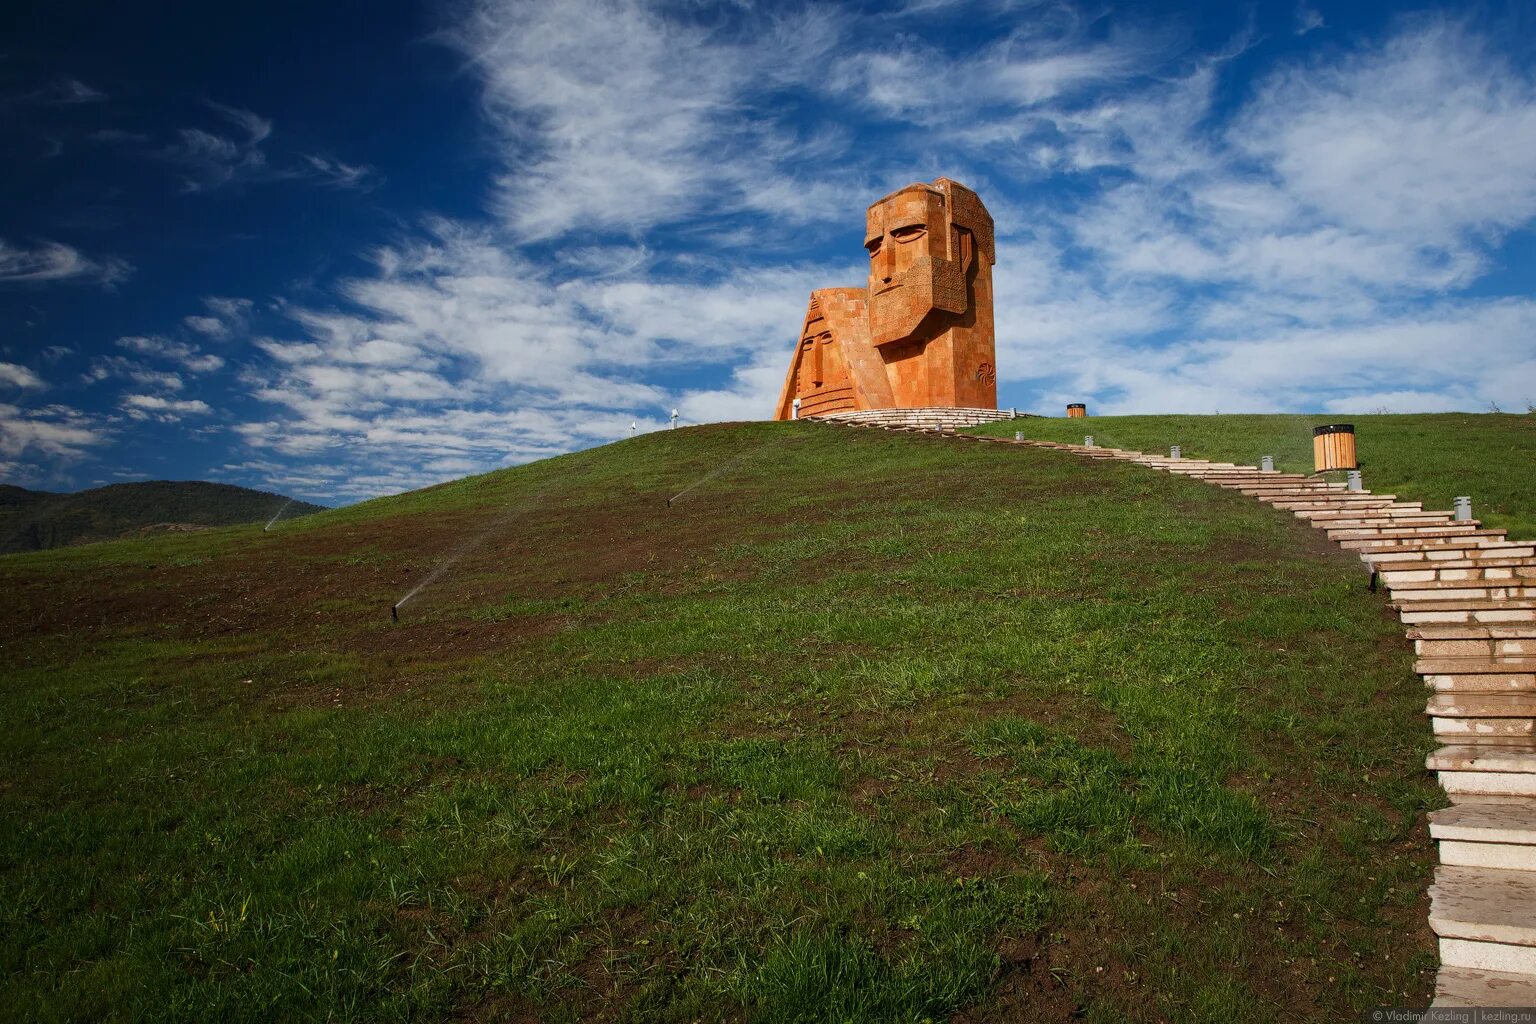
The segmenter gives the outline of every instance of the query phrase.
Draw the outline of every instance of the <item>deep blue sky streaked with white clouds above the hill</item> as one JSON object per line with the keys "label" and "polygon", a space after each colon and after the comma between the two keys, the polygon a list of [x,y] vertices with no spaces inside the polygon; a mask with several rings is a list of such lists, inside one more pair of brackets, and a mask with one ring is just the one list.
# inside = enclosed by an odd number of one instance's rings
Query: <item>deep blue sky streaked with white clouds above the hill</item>
{"label": "deep blue sky streaked with white clouds above the hill", "polygon": [[938,175],[1005,407],[1536,402],[1530,5],[140,6],[0,12],[3,482],[349,502],[766,418]]}

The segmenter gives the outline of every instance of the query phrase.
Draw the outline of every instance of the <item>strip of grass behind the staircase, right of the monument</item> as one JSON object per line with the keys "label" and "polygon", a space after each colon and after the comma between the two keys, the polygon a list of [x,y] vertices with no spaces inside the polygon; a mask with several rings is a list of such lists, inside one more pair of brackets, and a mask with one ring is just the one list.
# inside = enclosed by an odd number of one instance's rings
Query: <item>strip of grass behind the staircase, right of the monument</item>
{"label": "strip of grass behind the staircase, right of the monument", "polygon": [[1012,438],[1023,430],[1040,441],[1083,442],[1138,451],[1258,465],[1275,456],[1275,468],[1312,473],[1312,428],[1355,424],[1366,487],[1450,508],[1458,494],[1471,497],[1473,514],[1511,537],[1536,537],[1536,415],[1425,413],[1407,416],[1091,416],[989,424],[975,433]]}

